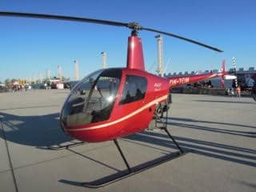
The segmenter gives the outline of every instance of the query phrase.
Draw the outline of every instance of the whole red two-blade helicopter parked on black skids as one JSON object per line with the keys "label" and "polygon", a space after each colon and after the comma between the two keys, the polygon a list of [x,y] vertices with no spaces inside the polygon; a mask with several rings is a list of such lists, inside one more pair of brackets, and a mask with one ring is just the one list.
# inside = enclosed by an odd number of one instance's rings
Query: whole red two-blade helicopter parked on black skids
{"label": "whole red two-blade helicopter parked on black skids", "polygon": [[[171,88],[209,78],[223,78],[226,74],[225,70],[222,70],[222,72],[215,74],[210,72],[207,74],[162,78],[146,72],[142,40],[138,38],[139,30],[165,34],[218,52],[222,52],[222,50],[176,34],[146,28],[140,26],[137,22],[123,23],[94,18],[14,12],[0,12],[0,16],[90,22],[110,26],[125,26],[131,30],[131,35],[128,38],[126,67],[102,69],[89,74],[74,86],[62,106],[60,113],[62,130],[72,138],[82,142],[113,140],[127,167],[127,170],[122,171],[122,174],[100,178],[94,182],[84,182],[82,186],[105,186],[174,158],[174,155],[166,155],[164,158],[147,162],[146,166],[130,167],[125,155],[122,153],[117,139],[146,130],[153,118],[157,122],[162,122],[162,126],[158,128],[165,130],[166,134],[178,147],[179,151],[175,157],[185,154],[167,130],[166,122]],[[159,115],[158,111],[166,112],[166,117]]]}

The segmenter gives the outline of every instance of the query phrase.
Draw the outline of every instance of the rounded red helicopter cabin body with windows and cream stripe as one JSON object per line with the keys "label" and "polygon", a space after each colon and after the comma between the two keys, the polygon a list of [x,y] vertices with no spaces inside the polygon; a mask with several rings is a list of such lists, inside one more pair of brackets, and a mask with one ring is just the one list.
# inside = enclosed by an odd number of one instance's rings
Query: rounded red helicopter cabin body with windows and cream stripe
{"label": "rounded red helicopter cabin body with windows and cream stripe", "polygon": [[166,78],[146,71],[114,68],[97,75],[74,87],[61,113],[63,130],[82,141],[103,142],[145,130],[169,94]]}

